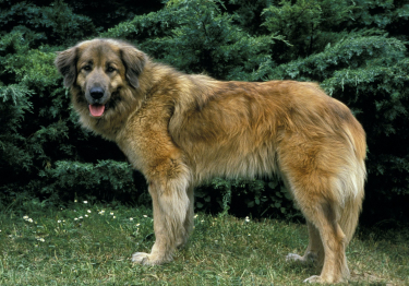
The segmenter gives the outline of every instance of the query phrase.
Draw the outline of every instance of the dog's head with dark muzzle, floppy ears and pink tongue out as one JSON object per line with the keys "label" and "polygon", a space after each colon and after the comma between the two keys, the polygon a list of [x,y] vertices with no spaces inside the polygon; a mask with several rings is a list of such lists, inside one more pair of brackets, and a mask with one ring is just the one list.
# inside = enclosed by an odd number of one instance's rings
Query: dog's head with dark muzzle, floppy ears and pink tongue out
{"label": "dog's head with dark muzzle, floppy ears and pink tongue out", "polygon": [[125,99],[122,90],[139,88],[146,60],[127,43],[93,39],[59,52],[55,63],[76,97],[74,105],[86,105],[91,117],[103,118]]}

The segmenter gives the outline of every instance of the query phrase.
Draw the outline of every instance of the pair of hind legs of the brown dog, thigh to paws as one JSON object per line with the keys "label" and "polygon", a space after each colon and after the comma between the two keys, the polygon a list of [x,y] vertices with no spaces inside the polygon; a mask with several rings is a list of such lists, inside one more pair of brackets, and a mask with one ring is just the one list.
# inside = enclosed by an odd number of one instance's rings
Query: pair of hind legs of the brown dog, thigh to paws
{"label": "pair of hind legs of the brown dog, thigh to paws", "polygon": [[349,278],[345,253],[348,239],[340,218],[349,193],[338,175],[344,158],[297,134],[290,139],[282,142],[286,147],[279,152],[280,170],[309,224],[310,243],[303,257],[290,254],[288,258],[306,262],[316,255],[317,264],[323,260],[321,274],[305,282],[346,281]]}

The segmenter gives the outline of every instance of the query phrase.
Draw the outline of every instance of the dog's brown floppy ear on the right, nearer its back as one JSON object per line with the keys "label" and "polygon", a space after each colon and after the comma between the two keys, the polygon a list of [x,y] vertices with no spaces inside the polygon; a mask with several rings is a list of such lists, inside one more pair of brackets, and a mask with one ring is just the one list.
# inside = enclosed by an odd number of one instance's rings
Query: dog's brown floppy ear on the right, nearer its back
{"label": "dog's brown floppy ear on the right, nearer its back", "polygon": [[121,47],[121,58],[127,69],[128,82],[134,88],[137,88],[140,86],[137,76],[145,67],[147,56],[130,45],[124,45]]}

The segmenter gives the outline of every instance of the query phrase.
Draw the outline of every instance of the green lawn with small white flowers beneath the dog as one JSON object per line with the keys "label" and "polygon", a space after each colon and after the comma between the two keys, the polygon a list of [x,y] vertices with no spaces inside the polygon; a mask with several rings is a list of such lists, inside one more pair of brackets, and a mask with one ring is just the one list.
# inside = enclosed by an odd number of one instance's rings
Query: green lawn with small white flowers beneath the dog
{"label": "green lawn with small white flowers beneath the dog", "polygon": [[[0,285],[303,285],[304,225],[232,216],[195,217],[188,247],[163,266],[134,265],[154,242],[152,211],[73,203],[0,213]],[[409,231],[358,235],[348,248],[350,285],[409,285]]]}

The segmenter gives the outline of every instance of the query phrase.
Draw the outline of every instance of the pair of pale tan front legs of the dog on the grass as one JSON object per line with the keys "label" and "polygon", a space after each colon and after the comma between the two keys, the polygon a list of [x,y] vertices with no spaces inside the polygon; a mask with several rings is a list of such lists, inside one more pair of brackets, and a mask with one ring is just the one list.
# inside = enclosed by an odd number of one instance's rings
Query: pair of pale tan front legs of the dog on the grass
{"label": "pair of pale tan front legs of the dog on the grass", "polygon": [[135,263],[157,265],[171,261],[176,248],[189,235],[185,227],[187,215],[193,214],[189,212],[189,171],[183,165],[177,169],[179,171],[175,174],[176,169],[172,168],[171,176],[169,169],[166,172],[157,172],[160,175],[149,180],[156,240],[151,253],[136,252],[132,255]]}

